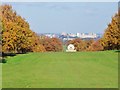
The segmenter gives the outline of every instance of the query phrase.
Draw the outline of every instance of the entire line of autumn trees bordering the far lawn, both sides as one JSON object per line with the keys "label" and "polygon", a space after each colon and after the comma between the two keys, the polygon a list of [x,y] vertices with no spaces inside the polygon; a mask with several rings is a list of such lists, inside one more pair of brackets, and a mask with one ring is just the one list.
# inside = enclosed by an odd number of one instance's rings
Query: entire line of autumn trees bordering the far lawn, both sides
{"label": "entire line of autumn trees bordering the far lawn, both sides", "polygon": [[[0,52],[26,53],[62,51],[63,43],[58,38],[40,38],[30,29],[29,23],[12,9],[11,5],[1,5]],[[77,51],[101,51],[120,49],[120,14],[116,13],[103,37],[95,40],[70,40],[65,45],[74,44]]]}

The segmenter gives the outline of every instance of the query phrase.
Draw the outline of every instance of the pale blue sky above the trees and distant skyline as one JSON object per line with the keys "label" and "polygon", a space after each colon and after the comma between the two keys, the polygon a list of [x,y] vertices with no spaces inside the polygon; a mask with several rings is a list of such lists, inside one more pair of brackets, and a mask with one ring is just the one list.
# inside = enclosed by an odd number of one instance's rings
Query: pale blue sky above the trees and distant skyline
{"label": "pale blue sky above the trees and distant skyline", "polygon": [[117,2],[7,2],[36,33],[103,33]]}

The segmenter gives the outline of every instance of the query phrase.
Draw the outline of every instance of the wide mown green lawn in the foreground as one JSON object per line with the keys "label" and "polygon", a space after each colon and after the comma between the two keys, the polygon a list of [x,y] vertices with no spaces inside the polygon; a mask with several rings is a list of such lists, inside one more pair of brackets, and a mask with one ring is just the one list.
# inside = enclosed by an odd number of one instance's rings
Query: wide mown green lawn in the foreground
{"label": "wide mown green lawn in the foreground", "polygon": [[8,57],[3,88],[117,88],[118,54],[29,53]]}

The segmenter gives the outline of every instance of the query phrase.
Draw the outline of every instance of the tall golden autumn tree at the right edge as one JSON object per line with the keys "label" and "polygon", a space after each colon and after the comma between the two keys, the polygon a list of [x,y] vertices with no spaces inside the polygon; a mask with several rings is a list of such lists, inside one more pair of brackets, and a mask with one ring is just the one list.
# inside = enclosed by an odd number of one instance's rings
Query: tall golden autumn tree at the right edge
{"label": "tall golden autumn tree at the right edge", "polygon": [[115,14],[115,16],[112,17],[111,23],[108,24],[101,38],[101,44],[104,50],[120,50],[120,14]]}

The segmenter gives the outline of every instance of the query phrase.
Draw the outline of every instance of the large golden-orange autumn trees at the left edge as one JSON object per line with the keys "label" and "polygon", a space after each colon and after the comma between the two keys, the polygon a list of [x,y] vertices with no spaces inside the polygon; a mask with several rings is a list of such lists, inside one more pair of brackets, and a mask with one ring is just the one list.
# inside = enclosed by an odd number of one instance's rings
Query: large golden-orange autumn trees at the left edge
{"label": "large golden-orange autumn trees at the left edge", "polygon": [[2,5],[0,20],[2,34],[2,52],[26,53],[43,52],[39,37],[30,30],[29,23],[12,9],[10,5]]}

